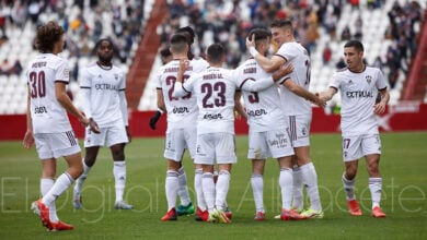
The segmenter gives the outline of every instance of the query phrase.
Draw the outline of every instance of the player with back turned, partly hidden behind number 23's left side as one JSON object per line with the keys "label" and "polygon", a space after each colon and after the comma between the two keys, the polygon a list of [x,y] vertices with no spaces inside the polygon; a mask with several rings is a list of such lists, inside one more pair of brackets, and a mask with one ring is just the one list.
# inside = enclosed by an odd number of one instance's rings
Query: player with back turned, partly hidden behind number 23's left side
{"label": "player with back turned, partly hidden behind number 23's left side", "polygon": [[[162,220],[177,219],[175,205],[180,187],[180,169],[182,169],[181,161],[186,148],[189,151],[192,159],[194,159],[196,153],[195,132],[198,112],[196,98],[193,95],[183,97],[172,96],[174,82],[176,81],[177,70],[180,68],[180,59],[187,60],[187,37],[183,34],[174,34],[171,37],[170,46],[173,60],[161,67],[157,75],[158,106],[162,111],[168,112],[168,130],[164,148],[164,157],[168,159],[168,172],[165,180],[168,213],[161,218]],[[188,74],[192,74],[193,72],[201,72],[206,69],[206,65],[195,64],[192,61],[191,69],[192,70],[188,71]],[[197,169],[201,169],[201,166],[195,165],[195,169],[197,172]],[[198,190],[200,189],[196,188],[197,195],[199,195],[197,193]],[[186,197],[181,199],[182,205],[187,208],[186,214],[192,214],[192,212],[194,213],[194,206],[189,201],[188,193],[186,195]],[[186,203],[184,202],[185,199],[187,200]],[[203,205],[203,202],[204,201],[197,199],[198,205]],[[193,211],[188,209],[191,206]]]}

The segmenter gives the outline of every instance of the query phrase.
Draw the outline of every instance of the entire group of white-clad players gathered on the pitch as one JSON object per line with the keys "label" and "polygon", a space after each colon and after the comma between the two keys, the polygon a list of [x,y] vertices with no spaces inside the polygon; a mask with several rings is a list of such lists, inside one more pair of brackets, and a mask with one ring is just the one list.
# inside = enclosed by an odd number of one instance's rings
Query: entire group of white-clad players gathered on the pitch
{"label": "entire group of white-clad players gathered on the pitch", "polygon": [[[345,172],[343,185],[351,215],[361,215],[355,196],[358,159],[365,157],[369,173],[373,217],[385,217],[380,207],[381,141],[376,113],[389,101],[386,84],[380,70],[362,63],[363,46],[350,40],[344,46],[347,68],[338,71],[330,87],[311,93],[310,57],[296,41],[292,23],[278,19],[270,29],[253,28],[246,47],[251,57],[234,70],[224,69],[226,49],[220,44],[207,48],[206,60],[192,53],[194,32],[180,28],[170,39],[172,58],[157,74],[158,111],[150,128],[166,113],[164,157],[168,160],[165,196],[168,212],[161,220],[195,213],[196,220],[231,223],[227,204],[232,165],[236,164],[234,118],[247,119],[247,158],[252,161],[251,185],[255,202],[255,220],[266,219],[263,202],[264,168],[267,158],[277,159],[281,193],[281,220],[323,218],[318,176],[310,159],[311,105],[324,107],[339,91],[342,97],[342,136]],[[270,43],[277,51],[268,56]],[[36,145],[42,159],[42,199],[32,204],[48,230],[70,230],[73,226],[59,220],[55,200],[74,181],[73,206],[82,207],[82,185],[106,144],[114,160],[115,208],[131,209],[123,199],[126,183],[125,145],[130,142],[125,73],[112,63],[113,43],[96,44],[99,60],[83,70],[80,81],[82,115],[69,99],[67,61],[57,57],[64,48],[64,29],[49,22],[37,29],[38,55],[26,72],[28,82],[27,132],[24,147]],[[353,95],[349,93],[363,94]],[[381,99],[377,100],[377,94]],[[243,99],[243,103],[241,101]],[[37,109],[45,109],[38,111]],[[372,109],[373,108],[373,109]],[[81,157],[78,140],[67,117],[76,116],[86,127]],[[188,194],[182,165],[185,149],[195,166],[196,204]],[[65,157],[68,169],[59,178],[56,159]],[[83,159],[83,160],[82,160]],[[310,206],[303,206],[303,189]],[[176,206],[177,197],[181,204]],[[195,207],[195,205],[197,207]]]}

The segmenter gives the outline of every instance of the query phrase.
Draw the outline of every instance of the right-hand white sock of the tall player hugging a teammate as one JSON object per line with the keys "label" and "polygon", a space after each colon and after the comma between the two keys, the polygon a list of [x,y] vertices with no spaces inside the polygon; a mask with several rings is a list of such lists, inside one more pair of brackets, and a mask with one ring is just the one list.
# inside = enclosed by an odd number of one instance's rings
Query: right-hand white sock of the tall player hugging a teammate
{"label": "right-hand white sock of the tall player hugging a teammate", "polygon": [[310,208],[314,211],[322,211],[318,188],[318,173],[315,172],[313,163],[303,165],[300,169],[302,181],[305,184],[305,191],[310,199]]}

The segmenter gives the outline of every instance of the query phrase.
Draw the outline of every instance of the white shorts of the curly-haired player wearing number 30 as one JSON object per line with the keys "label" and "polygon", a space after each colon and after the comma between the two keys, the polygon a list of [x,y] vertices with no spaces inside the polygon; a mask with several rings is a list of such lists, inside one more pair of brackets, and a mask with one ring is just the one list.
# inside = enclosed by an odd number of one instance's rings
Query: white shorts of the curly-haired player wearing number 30
{"label": "white shorts of the curly-haired player wearing number 30", "polygon": [[61,133],[35,133],[34,140],[41,159],[70,156],[80,152],[79,140],[72,130]]}

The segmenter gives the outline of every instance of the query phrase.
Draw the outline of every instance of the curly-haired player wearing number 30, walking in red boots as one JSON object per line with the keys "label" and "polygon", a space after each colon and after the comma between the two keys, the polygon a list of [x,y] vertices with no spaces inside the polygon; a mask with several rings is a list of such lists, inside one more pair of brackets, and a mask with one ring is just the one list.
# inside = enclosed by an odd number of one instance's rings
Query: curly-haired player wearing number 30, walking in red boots
{"label": "curly-haired player wearing number 30, walking in red boots", "polygon": [[[58,57],[64,50],[64,33],[56,22],[47,22],[37,28],[35,46],[41,53],[30,61],[25,73],[28,101],[23,146],[31,148],[35,144],[42,160],[43,197],[32,204],[32,209],[53,231],[73,229],[73,226],[59,220],[55,201],[83,171],[79,142],[67,111],[83,125],[89,123],[67,95],[66,85],[70,80],[68,62]],[[56,159],[61,156],[68,169],[55,181]]]}

